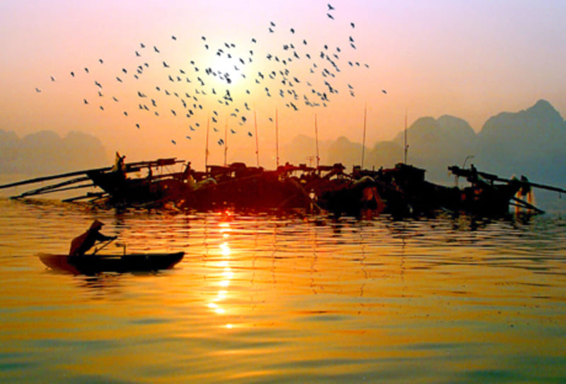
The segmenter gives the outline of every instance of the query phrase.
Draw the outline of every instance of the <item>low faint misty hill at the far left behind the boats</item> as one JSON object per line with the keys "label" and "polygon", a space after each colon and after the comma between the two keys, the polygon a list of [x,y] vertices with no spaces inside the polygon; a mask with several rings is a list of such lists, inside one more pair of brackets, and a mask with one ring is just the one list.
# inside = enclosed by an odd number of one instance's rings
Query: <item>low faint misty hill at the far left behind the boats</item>
{"label": "low faint misty hill at the far left behind the boats", "polygon": [[20,139],[0,129],[0,173],[49,175],[110,163],[103,145],[89,134],[69,132],[62,138],[40,131]]}

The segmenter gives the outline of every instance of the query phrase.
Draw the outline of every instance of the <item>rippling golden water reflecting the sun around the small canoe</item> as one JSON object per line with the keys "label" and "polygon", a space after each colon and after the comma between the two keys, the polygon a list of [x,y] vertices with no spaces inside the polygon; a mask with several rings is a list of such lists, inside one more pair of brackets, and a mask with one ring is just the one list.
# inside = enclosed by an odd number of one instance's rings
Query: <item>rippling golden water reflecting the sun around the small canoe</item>
{"label": "rippling golden water reflecting the sun around the small canoe", "polygon": [[[566,220],[339,222],[0,199],[2,383],[564,383]],[[46,269],[94,218],[175,269]],[[105,250],[122,252],[110,245]]]}

